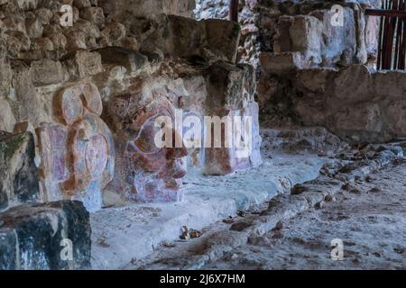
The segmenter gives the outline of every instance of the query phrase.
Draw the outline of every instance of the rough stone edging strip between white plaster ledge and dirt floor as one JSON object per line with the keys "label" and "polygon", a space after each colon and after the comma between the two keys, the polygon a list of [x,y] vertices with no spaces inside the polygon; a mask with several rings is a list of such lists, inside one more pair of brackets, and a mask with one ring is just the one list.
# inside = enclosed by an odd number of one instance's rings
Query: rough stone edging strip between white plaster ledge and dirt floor
{"label": "rough stone edging strip between white plaster ledge and dirt floor", "polygon": [[[295,185],[291,193],[279,194],[272,198],[269,206],[263,211],[263,207],[259,207],[256,212],[247,213],[244,217],[235,217],[227,223],[217,222],[210,225],[201,238],[178,243],[173,248],[162,248],[150,257],[134,261],[125,268],[201,269],[224,257],[225,253],[235,247],[261,242],[264,234],[272,229],[281,229],[284,221],[291,220],[301,212],[311,207],[321,209],[323,202],[334,201],[337,192],[348,189],[346,187],[351,189],[354,181],[366,178],[374,170],[382,169],[399,158],[404,161],[401,147],[404,147],[404,142],[370,145],[359,151],[349,151],[346,156],[342,155],[343,159],[327,162],[316,179]],[[358,154],[364,154],[366,158],[360,160]]]}

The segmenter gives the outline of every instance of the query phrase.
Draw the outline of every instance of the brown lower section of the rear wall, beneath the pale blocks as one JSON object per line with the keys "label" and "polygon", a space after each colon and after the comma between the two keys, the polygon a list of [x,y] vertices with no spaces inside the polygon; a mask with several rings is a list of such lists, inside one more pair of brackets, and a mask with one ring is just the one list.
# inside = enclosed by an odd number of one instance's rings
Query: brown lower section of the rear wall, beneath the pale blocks
{"label": "brown lower section of the rear wall, beneath the pale blocks", "polygon": [[[404,137],[404,79],[402,71],[372,72],[363,65],[296,70],[290,81],[260,90],[260,98],[268,97],[262,109],[270,109],[263,121],[268,127],[324,126],[351,143]],[[262,81],[270,83],[266,76]]]}

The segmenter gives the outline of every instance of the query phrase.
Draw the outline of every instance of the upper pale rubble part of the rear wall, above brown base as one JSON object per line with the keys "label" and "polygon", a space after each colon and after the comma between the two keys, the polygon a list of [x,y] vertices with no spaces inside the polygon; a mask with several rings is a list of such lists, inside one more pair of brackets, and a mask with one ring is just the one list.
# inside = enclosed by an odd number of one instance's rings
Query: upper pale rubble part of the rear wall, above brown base
{"label": "upper pale rubble part of the rear wall, above brown base", "polygon": [[[347,3],[346,3],[347,2]],[[238,60],[260,69],[260,54],[298,52],[304,63],[312,67],[332,67],[365,63],[376,54],[376,17],[364,17],[365,7],[378,7],[372,1],[264,1],[241,0],[239,23],[242,38]],[[344,26],[332,27],[334,4],[344,7]],[[198,0],[198,19],[226,19],[228,0]],[[286,58],[288,58],[286,56]],[[275,56],[276,62],[290,61]]]}

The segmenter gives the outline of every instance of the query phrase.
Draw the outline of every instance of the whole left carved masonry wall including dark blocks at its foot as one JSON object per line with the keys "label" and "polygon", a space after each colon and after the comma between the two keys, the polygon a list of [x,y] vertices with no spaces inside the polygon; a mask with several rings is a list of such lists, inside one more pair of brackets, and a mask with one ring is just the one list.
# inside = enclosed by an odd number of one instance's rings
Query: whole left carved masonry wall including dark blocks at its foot
{"label": "whole left carved masonry wall including dark blocks at its foot", "polygon": [[[112,4],[0,1],[0,269],[90,268],[88,211],[180,201],[191,166],[261,164],[254,68],[235,64],[239,25],[193,20],[189,0]],[[154,147],[153,121],[179,113],[252,117],[253,153]],[[68,240],[74,261],[60,257]]]}

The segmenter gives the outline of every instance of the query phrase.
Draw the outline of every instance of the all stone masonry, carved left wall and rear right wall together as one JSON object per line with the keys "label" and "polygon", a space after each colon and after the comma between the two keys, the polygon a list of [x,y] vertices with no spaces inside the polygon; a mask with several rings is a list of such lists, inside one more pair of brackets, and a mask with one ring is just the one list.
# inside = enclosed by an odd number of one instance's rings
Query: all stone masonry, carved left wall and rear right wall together
{"label": "all stone masonry, carved left wall and rear right wall together", "polygon": [[[219,0],[198,1],[201,21],[189,0],[0,0],[0,268],[89,268],[88,211],[179,202],[191,167],[259,166],[260,121],[352,143],[405,137],[406,74],[374,71],[379,18],[363,14],[379,2],[245,0],[233,23]],[[179,115],[251,117],[251,153],[157,148],[155,121]],[[74,262],[60,262],[67,238]]]}

